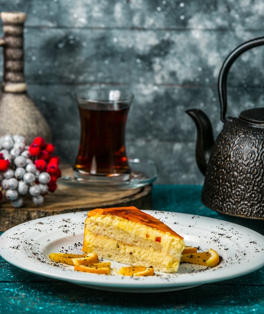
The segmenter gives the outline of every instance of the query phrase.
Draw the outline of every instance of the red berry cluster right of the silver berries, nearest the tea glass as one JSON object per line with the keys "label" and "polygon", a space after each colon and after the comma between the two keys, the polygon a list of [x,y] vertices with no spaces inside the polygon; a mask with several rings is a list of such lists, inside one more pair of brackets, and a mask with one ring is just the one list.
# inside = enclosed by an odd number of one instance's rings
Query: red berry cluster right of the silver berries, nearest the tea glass
{"label": "red berry cluster right of the silver berries, nearest the tea glass", "polygon": [[29,145],[29,153],[34,156],[34,164],[40,172],[47,172],[51,179],[48,184],[49,191],[54,192],[57,189],[57,179],[61,177],[59,169],[60,159],[58,156],[52,155],[55,146],[46,143],[43,137],[35,137]]}

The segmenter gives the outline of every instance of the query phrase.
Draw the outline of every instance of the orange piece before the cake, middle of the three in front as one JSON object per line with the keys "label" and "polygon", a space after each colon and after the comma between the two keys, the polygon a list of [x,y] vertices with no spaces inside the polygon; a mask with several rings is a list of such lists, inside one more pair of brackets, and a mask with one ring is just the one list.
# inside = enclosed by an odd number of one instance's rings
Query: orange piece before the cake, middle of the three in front
{"label": "orange piece before the cake, middle of the three in front", "polygon": [[84,258],[73,258],[74,270],[89,272],[94,274],[103,274],[108,275],[111,271],[111,263],[110,262],[102,262],[102,263],[89,263],[89,261]]}

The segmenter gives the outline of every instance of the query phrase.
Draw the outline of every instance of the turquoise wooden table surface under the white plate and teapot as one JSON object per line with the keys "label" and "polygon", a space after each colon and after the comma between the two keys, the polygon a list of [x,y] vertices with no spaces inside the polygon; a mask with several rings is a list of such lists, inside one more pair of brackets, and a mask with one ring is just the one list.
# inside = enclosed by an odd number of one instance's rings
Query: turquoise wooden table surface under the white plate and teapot
{"label": "turquoise wooden table surface under the white plate and teapot", "polygon": [[[220,215],[202,205],[200,194],[200,186],[154,185],[152,208],[224,219],[263,234],[263,221]],[[1,314],[264,314],[264,267],[235,279],[185,290],[120,293],[45,278],[23,271],[0,258],[0,281]]]}

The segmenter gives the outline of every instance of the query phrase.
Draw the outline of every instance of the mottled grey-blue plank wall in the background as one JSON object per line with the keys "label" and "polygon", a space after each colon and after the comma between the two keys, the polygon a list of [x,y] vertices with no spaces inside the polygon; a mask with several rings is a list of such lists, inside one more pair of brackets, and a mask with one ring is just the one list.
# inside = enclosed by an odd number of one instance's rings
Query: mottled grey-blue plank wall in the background
{"label": "mottled grey-blue plank wall in the background", "polygon": [[[0,0],[0,10],[28,14],[28,91],[63,160],[74,161],[79,141],[74,92],[127,87],[135,94],[128,155],[155,160],[156,183],[203,183],[185,110],[202,108],[221,130],[219,70],[236,46],[263,36],[262,0]],[[263,105],[263,59],[258,47],[233,64],[228,115]]]}

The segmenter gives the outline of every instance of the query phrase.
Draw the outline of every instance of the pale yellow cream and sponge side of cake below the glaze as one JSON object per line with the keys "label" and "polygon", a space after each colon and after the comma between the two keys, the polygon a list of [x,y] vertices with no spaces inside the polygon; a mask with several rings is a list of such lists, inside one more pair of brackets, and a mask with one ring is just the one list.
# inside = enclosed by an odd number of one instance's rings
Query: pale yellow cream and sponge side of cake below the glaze
{"label": "pale yellow cream and sponge side of cake below the glaze", "polygon": [[102,258],[177,272],[183,249],[182,239],[119,217],[90,217],[85,223],[83,251]]}

